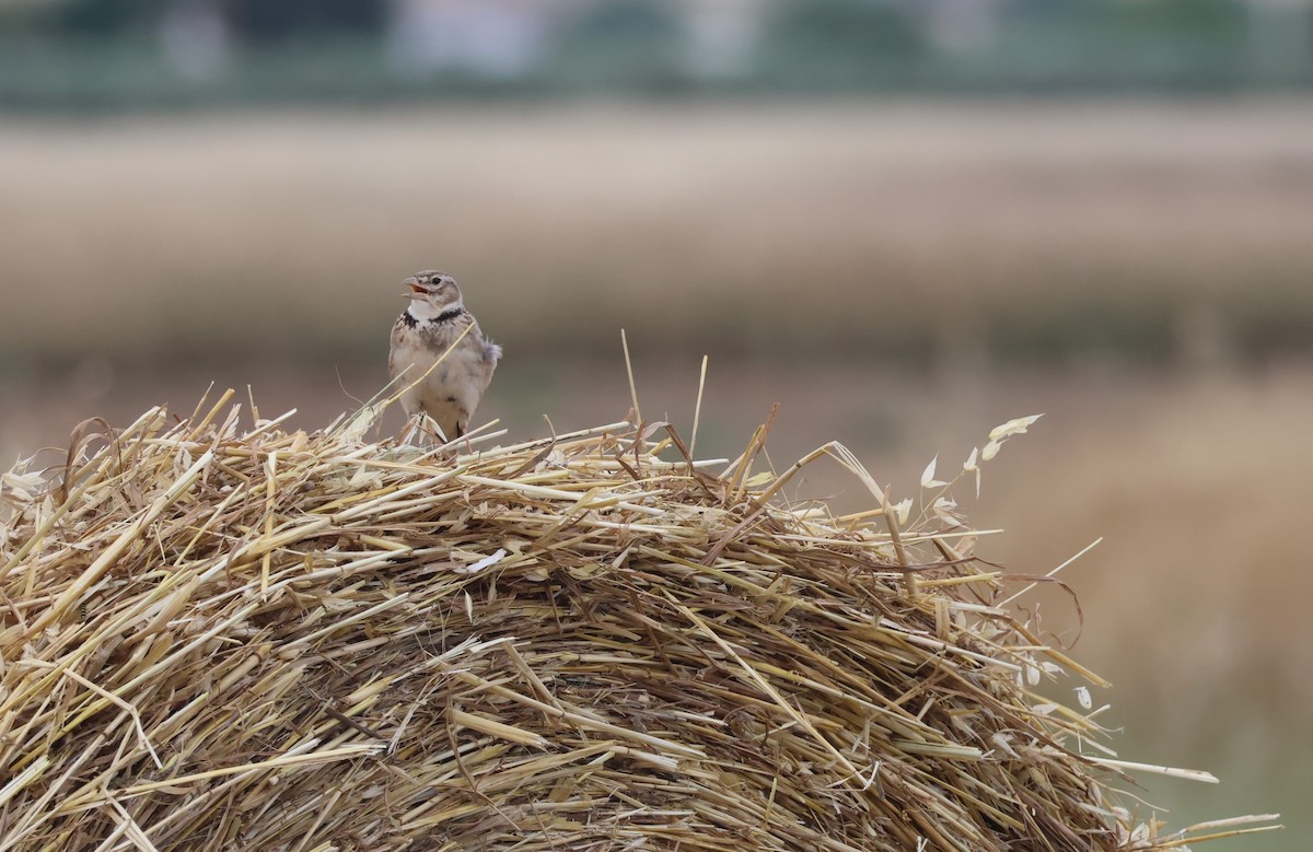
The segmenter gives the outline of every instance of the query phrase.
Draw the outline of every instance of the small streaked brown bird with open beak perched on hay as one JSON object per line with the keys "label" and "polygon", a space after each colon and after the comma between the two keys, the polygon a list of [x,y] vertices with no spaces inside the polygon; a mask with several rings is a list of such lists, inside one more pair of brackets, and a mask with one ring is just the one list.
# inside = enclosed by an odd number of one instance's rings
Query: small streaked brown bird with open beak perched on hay
{"label": "small streaked brown bird with open beak perched on hay", "polygon": [[502,347],[483,336],[452,276],[425,269],[402,285],[410,305],[393,326],[387,374],[399,381],[406,416],[427,414],[454,441],[469,431]]}

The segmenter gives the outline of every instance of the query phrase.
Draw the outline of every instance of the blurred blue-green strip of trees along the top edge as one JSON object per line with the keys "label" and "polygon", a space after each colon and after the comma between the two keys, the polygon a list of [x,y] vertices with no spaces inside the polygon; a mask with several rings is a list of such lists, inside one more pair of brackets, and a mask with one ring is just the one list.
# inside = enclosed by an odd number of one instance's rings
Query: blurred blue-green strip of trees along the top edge
{"label": "blurred blue-green strip of trees along the top edge", "polygon": [[[529,21],[541,29],[534,37],[541,43],[512,46],[523,55],[508,70],[484,67],[466,54],[415,67],[398,63],[397,39],[411,24],[385,0],[26,0],[0,7],[0,109],[352,104],[597,91],[760,96],[1313,85],[1308,4],[1011,0],[982,4],[973,17],[962,17],[961,8],[911,0],[775,0],[763,4],[758,17],[734,25],[747,47],[742,56],[721,62],[712,54],[722,46],[700,42],[696,21],[678,7],[599,0],[558,7]],[[222,51],[223,62],[200,74],[185,67],[193,47],[165,45],[165,30],[185,17],[181,13],[198,11],[225,33],[222,45],[210,46]],[[513,30],[516,22],[492,20],[487,26],[492,30],[475,33],[477,39],[491,38],[495,47],[503,35],[494,30]],[[441,18],[432,28],[437,38],[466,35]],[[175,28],[173,35],[179,32]]]}

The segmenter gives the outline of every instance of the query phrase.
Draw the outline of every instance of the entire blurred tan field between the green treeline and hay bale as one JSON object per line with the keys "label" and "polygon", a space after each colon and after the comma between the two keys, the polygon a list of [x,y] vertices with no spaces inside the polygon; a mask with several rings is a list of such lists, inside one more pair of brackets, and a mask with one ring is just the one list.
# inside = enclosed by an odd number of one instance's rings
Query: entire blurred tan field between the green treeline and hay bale
{"label": "entire blurred tan field between the green treeline and hay bale", "polygon": [[[990,427],[983,554],[1062,576],[1074,654],[1180,826],[1302,849],[1313,104],[586,105],[0,125],[0,452],[210,381],[315,427],[383,381],[406,274],[465,285],[517,436],[643,414],[851,446],[895,495]],[[51,457],[54,459],[54,457]],[[958,490],[962,496],[969,487]],[[838,471],[802,495],[861,505]],[[1041,596],[1054,628],[1069,599]]]}

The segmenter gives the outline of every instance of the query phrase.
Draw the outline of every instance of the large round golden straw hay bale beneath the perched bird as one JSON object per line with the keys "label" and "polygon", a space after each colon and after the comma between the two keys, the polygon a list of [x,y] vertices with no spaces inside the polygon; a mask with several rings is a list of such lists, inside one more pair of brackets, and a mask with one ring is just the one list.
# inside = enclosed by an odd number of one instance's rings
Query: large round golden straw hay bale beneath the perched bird
{"label": "large round golden straw hay bale beneath the perched bird", "polygon": [[626,423],[420,454],[221,410],[5,475],[0,848],[1180,841],[1073,751],[1098,725],[1033,692],[1071,664],[943,507],[785,505],[764,431],[726,467]]}

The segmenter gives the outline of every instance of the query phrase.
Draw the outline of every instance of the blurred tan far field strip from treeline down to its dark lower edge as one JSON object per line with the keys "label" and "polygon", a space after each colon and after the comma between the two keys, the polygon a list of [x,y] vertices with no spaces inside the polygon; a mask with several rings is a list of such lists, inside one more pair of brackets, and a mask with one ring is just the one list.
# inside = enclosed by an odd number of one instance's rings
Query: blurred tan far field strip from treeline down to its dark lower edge
{"label": "blurred tan far field strip from treeline down to its dark lower edge", "polygon": [[1048,328],[1094,345],[1095,326],[1153,352],[1183,299],[1279,335],[1313,315],[1310,119],[1301,101],[8,119],[0,333],[39,345],[51,299],[76,297],[71,352],[340,358],[440,263],[503,336],[588,354],[635,316],[752,356],[978,323],[1003,349],[1043,353]]}

